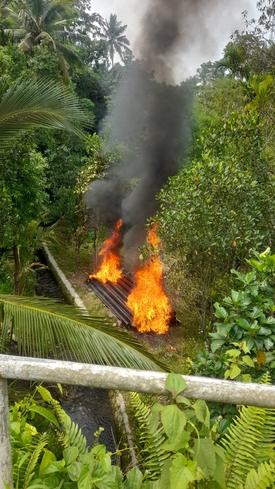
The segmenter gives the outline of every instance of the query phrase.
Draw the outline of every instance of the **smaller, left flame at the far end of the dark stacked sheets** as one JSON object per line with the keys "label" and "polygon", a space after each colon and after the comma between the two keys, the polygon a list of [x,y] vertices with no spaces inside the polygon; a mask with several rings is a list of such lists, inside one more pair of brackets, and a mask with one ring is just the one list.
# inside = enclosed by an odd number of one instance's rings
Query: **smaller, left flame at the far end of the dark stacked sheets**
{"label": "smaller, left flame at the far end of the dark stacked sheets", "polygon": [[99,252],[99,255],[103,255],[103,261],[99,271],[94,275],[90,275],[90,278],[97,278],[103,282],[103,284],[106,284],[108,281],[116,283],[122,275],[122,271],[119,269],[120,258],[115,251],[121,242],[121,226],[122,221],[119,219],[115,225],[111,238],[104,241],[103,248]]}

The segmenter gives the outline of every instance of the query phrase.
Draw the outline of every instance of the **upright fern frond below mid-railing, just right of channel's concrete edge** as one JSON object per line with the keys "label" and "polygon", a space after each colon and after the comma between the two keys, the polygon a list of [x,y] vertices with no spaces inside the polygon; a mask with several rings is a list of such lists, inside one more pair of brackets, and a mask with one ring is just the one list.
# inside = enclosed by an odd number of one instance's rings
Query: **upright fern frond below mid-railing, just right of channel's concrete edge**
{"label": "upright fern frond below mid-railing, just right of channel's concrete edge", "polygon": [[159,479],[163,462],[170,456],[170,452],[162,448],[165,440],[163,427],[161,426],[151,434],[149,430],[151,410],[141,402],[138,394],[130,392],[130,395],[140,430],[139,442],[143,445],[139,455],[142,457],[141,463],[146,474],[144,478],[151,481]]}

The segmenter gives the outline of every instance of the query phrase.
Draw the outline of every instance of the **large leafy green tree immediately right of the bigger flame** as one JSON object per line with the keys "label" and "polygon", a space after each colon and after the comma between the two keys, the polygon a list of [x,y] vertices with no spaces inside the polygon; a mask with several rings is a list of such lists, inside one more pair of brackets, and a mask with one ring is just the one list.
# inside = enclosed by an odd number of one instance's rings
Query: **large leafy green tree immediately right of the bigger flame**
{"label": "large leafy green tree immediately right of the bigger flame", "polygon": [[200,144],[201,160],[161,190],[153,221],[177,285],[182,273],[188,289],[195,289],[206,334],[210,296],[217,294],[219,280],[246,263],[250,248],[274,240],[275,178],[257,112],[232,114],[223,128],[206,131]]}

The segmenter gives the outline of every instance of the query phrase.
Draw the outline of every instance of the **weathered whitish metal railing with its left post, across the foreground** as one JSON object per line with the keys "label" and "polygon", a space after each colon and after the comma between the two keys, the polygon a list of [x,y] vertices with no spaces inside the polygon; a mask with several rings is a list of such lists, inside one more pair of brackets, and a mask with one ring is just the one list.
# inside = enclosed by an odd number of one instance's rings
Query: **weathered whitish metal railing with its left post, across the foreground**
{"label": "weathered whitish metal railing with its left post, across the foreground", "polygon": [[[107,390],[169,395],[168,374],[57,360],[0,355],[0,489],[13,488],[7,379],[59,382]],[[275,386],[184,376],[184,396],[275,408]]]}

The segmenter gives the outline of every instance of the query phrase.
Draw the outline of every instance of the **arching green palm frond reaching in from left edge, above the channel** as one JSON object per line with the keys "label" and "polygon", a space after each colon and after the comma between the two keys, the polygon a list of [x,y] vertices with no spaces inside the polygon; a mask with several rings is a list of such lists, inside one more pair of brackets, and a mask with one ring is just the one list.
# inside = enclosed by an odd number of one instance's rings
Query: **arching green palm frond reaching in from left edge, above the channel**
{"label": "arching green palm frond reaching in from left edge, above the channel", "polygon": [[33,128],[62,129],[80,137],[73,123],[90,126],[78,99],[65,87],[50,81],[25,80],[7,88],[0,80],[0,158],[12,146],[13,138]]}

